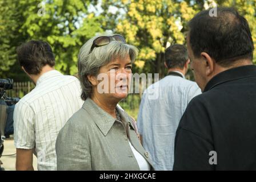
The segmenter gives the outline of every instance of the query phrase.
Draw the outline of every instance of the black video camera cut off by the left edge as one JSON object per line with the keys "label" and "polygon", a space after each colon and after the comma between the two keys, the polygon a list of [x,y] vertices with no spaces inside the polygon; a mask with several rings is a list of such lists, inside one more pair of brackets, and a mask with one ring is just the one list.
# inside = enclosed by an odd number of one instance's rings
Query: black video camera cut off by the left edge
{"label": "black video camera cut off by the left edge", "polygon": [[[3,142],[6,137],[13,134],[13,111],[19,99],[6,96],[6,90],[13,89],[13,80],[10,78],[0,79],[0,158],[3,153]],[[4,170],[1,168],[0,171]]]}

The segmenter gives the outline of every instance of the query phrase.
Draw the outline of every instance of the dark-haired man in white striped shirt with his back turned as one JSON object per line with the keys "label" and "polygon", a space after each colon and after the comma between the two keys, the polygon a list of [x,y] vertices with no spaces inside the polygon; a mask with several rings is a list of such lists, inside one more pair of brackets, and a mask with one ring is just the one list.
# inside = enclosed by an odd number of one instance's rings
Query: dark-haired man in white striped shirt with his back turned
{"label": "dark-haired man in white striped shirt with his back turned", "polygon": [[56,170],[55,141],[62,126],[83,104],[81,86],[74,76],[64,76],[54,69],[53,51],[47,42],[24,43],[17,55],[36,86],[15,105],[16,169],[33,170],[34,153],[38,170]]}

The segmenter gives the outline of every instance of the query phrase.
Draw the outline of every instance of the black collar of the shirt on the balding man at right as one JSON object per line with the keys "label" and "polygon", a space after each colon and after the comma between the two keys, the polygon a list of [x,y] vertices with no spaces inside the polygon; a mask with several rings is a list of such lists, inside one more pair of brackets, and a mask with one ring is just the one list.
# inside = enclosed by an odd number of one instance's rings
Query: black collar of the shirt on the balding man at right
{"label": "black collar of the shirt on the balding man at right", "polygon": [[238,80],[245,77],[256,77],[256,66],[255,65],[245,65],[241,67],[227,69],[215,75],[205,86],[203,92],[214,88],[219,84],[223,84],[228,81]]}

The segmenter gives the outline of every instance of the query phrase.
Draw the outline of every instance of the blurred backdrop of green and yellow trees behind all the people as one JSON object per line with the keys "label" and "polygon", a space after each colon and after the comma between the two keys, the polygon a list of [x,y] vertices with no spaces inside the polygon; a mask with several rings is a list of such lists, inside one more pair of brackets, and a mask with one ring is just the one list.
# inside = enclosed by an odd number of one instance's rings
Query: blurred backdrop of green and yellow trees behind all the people
{"label": "blurred backdrop of green and yellow trees behind all the people", "polygon": [[[103,32],[121,34],[138,47],[133,73],[159,73],[161,78],[166,74],[165,48],[186,44],[187,22],[199,11],[216,6],[232,6],[244,15],[256,44],[256,0],[0,0],[0,78],[14,80],[9,97],[21,98],[34,88],[15,54],[19,44],[31,39],[49,42],[55,68],[74,75],[79,48]],[[187,78],[193,80],[191,71]],[[121,106],[136,119],[140,100],[141,93],[130,94]]]}

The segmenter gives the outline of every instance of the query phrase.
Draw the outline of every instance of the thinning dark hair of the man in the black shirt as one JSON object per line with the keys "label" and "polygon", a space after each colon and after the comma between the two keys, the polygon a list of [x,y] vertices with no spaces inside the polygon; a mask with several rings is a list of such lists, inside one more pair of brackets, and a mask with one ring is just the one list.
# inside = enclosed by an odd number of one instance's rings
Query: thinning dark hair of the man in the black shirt
{"label": "thinning dark hair of the man in the black shirt", "polygon": [[217,16],[209,12],[201,11],[189,22],[189,43],[195,57],[206,52],[223,67],[236,60],[252,60],[254,45],[247,20],[233,8],[219,7]]}

